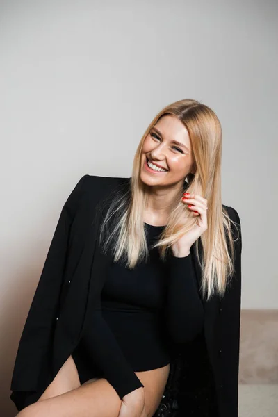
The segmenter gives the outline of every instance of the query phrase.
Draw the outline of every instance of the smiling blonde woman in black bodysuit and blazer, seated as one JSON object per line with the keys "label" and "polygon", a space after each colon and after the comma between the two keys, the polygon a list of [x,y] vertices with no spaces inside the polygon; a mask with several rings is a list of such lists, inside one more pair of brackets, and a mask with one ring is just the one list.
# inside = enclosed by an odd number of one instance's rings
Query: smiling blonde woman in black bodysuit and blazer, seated
{"label": "smiling blonde woman in black bodysuit and blazer, seated", "polygon": [[17,417],[167,416],[168,389],[171,415],[238,416],[240,220],[221,152],[218,117],[186,99],[152,120],[131,178],[81,178],[19,343]]}

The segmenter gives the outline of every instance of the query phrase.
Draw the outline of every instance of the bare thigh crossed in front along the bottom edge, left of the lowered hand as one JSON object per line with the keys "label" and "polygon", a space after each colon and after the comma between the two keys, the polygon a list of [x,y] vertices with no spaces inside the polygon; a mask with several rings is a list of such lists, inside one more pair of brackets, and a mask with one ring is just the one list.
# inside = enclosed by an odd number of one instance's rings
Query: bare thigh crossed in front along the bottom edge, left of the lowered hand
{"label": "bare thigh crossed in front along the bottom edge, left of the lowered hand", "polygon": [[122,400],[104,378],[31,404],[17,417],[118,417]]}

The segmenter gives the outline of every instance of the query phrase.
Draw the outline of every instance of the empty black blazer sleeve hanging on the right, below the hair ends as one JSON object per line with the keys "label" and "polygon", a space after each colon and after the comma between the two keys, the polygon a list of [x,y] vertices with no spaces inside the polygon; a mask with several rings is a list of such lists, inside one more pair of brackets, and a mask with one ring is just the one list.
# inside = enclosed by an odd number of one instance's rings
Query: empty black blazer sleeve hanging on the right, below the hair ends
{"label": "empty black blazer sleeve hanging on the right, below the hair ends", "polygon": [[234,238],[235,261],[234,275],[221,301],[221,390],[224,402],[229,404],[229,416],[238,417],[238,368],[240,354],[240,308],[241,308],[241,252],[242,237],[240,218],[237,211],[230,207]]}

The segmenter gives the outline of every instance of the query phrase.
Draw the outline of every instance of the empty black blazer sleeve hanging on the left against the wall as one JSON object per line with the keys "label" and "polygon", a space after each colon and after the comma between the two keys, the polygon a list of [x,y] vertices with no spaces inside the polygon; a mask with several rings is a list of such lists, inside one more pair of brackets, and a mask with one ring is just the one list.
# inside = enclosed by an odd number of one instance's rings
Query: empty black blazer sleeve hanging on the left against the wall
{"label": "empty black blazer sleeve hanging on the left against the wall", "polygon": [[[51,329],[63,282],[70,229],[88,177],[90,175],[87,174],[79,180],[60,213],[19,341],[11,382],[12,391],[34,390],[38,382],[38,370],[51,340]],[[32,349],[32,346],[35,348]]]}

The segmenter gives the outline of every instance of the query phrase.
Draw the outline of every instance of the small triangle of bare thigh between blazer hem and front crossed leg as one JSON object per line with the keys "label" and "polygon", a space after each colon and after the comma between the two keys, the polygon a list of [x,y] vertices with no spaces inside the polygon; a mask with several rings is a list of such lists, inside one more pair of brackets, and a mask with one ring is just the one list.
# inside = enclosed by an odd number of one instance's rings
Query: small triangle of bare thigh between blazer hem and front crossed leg
{"label": "small triangle of bare thigh between blazer hem and front crossed leg", "polygon": [[60,368],[54,380],[47,386],[38,401],[47,400],[47,398],[55,397],[76,389],[80,386],[79,374],[77,372],[74,359],[70,356]]}

